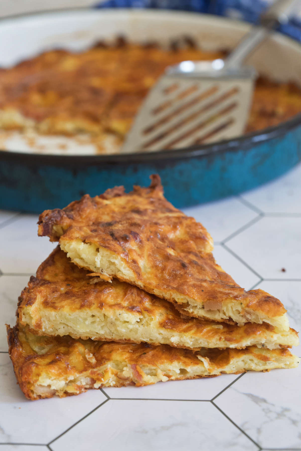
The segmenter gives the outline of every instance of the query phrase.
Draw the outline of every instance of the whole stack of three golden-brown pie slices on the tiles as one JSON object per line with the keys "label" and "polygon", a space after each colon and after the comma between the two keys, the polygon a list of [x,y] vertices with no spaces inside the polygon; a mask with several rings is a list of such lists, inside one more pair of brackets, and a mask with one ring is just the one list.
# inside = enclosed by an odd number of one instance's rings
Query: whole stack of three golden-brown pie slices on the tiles
{"label": "whole stack of three golden-brown pie slices on the tiles", "polygon": [[38,235],[59,245],[8,327],[29,399],[298,365],[282,303],[237,285],[207,230],[151,179],[40,216]]}

